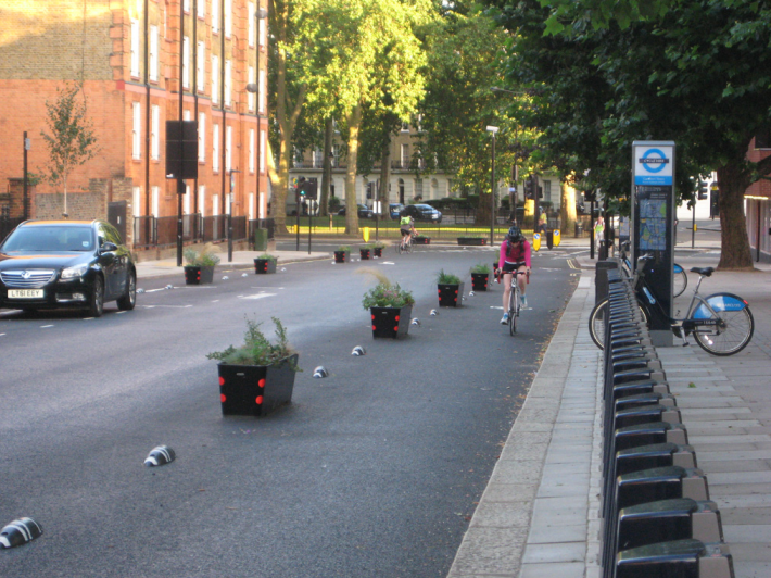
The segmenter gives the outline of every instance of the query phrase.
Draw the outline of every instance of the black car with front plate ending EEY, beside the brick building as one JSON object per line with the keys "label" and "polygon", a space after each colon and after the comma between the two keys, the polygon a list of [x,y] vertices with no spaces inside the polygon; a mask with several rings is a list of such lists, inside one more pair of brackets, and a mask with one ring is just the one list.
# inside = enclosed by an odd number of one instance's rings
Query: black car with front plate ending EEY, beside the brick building
{"label": "black car with front plate ending EEY, beside the brick building", "polygon": [[0,244],[0,307],[77,307],[102,315],[137,302],[137,271],[121,235],[103,221],[27,221]]}

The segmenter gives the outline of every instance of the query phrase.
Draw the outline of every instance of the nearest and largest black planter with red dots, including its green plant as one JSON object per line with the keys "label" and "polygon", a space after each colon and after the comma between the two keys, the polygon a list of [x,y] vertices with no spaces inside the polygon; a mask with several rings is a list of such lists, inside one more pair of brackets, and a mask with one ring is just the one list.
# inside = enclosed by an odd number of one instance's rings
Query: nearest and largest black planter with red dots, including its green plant
{"label": "nearest and largest black planter with red dots, including its green plant", "polygon": [[287,330],[276,324],[276,341],[260,330],[261,323],[247,317],[243,344],[206,355],[219,364],[219,401],[223,415],[258,417],[292,401],[298,354],[289,347]]}

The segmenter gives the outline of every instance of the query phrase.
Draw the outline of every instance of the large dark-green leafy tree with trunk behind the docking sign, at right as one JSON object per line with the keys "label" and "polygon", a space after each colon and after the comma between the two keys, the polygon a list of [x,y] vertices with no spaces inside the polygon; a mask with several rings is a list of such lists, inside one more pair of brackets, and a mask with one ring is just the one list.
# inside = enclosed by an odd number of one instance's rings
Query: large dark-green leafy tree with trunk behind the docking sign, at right
{"label": "large dark-green leafy tree with trunk behind the docking sign, at right", "polygon": [[[693,196],[688,177],[717,169],[719,267],[751,267],[743,196],[771,169],[771,159],[747,161],[753,136],[771,117],[769,9],[736,0],[665,4],[665,16],[619,21],[594,17],[604,0],[502,0],[498,21],[517,30],[509,75],[545,87],[531,122],[548,127],[545,142],[564,155],[564,169],[589,169],[586,184],[606,194],[629,190],[632,140],[677,142],[682,197]],[[563,27],[548,36],[555,16]]]}

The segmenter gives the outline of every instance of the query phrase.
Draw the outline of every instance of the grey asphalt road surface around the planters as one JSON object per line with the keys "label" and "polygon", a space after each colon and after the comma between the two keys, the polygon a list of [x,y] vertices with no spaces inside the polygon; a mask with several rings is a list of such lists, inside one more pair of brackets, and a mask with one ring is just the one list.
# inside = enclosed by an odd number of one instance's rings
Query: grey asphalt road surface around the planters
{"label": "grey asphalt road surface around the planters", "polygon": [[[469,296],[495,255],[220,265],[211,286],[140,278],[137,309],[99,319],[1,311],[0,526],[30,516],[43,535],[0,551],[0,576],[445,576],[579,278],[568,250],[536,255],[511,337],[501,286]],[[364,267],[413,290],[408,338],[372,339]],[[466,300],[430,316],[441,268]],[[303,369],[261,419],[223,417],[205,357],[241,343],[245,315],[268,334],[279,317]],[[177,460],[144,467],[159,444]]]}

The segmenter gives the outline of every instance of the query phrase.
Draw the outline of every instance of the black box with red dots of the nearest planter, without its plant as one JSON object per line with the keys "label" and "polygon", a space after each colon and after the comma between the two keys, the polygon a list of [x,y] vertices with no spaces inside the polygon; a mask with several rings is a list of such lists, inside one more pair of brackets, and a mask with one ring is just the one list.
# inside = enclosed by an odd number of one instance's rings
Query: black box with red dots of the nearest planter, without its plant
{"label": "black box with red dots of the nearest planter, without its plant", "polygon": [[279,366],[217,365],[223,415],[260,417],[291,402],[295,372],[290,362],[296,365],[298,355]]}

